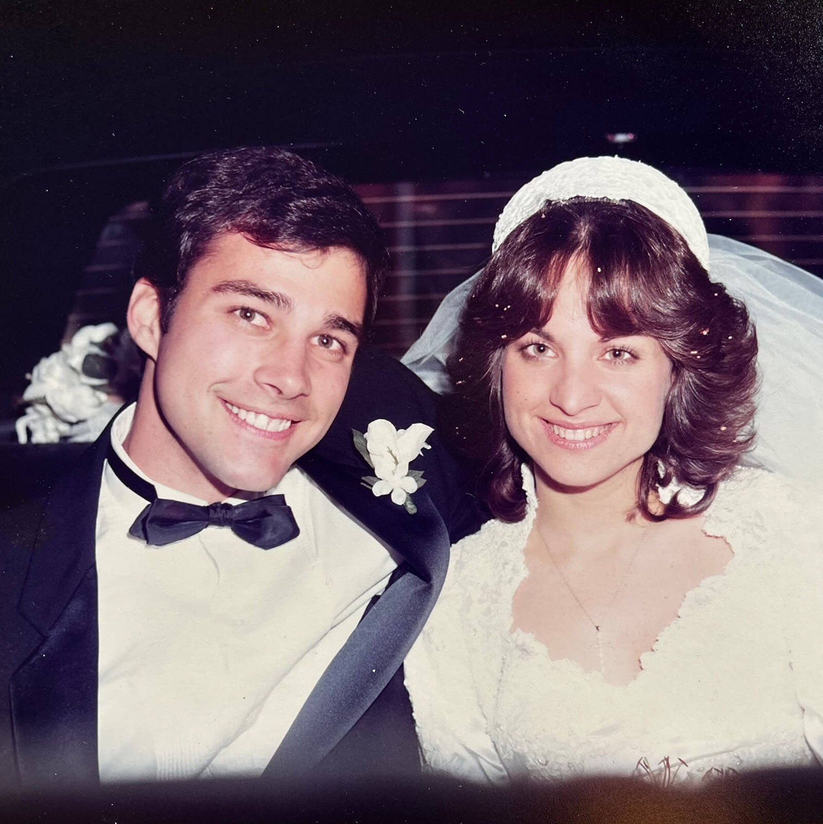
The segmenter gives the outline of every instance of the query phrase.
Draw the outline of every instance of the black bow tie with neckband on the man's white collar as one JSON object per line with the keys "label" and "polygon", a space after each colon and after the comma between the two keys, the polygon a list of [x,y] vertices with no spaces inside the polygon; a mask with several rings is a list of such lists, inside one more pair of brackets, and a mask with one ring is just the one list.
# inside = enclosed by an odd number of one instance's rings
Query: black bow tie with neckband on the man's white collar
{"label": "black bow tie with neckband on the man's white collar", "polygon": [[263,550],[291,541],[300,535],[292,508],[283,495],[264,495],[245,503],[212,503],[199,506],[157,497],[157,490],[129,469],[114,449],[109,465],[115,475],[149,503],[129,529],[129,535],[147,544],[165,546],[197,535],[206,527],[229,527],[234,534]]}

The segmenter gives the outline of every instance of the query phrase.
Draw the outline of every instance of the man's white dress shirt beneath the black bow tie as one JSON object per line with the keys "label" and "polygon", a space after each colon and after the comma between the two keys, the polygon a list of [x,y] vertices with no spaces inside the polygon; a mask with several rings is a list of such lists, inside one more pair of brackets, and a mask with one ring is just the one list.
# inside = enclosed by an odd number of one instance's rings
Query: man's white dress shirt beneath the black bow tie
{"label": "man's white dress shirt beneath the black bow tie", "polygon": [[[111,431],[115,452],[133,418]],[[153,483],[153,482],[152,482]],[[155,484],[161,498],[204,501]],[[129,527],[147,502],[105,465],[97,513],[103,781],[260,775],[397,562],[292,467],[300,535],[273,550],[207,527],[166,546]],[[364,490],[367,492],[367,490]],[[241,503],[228,499],[227,503]]]}

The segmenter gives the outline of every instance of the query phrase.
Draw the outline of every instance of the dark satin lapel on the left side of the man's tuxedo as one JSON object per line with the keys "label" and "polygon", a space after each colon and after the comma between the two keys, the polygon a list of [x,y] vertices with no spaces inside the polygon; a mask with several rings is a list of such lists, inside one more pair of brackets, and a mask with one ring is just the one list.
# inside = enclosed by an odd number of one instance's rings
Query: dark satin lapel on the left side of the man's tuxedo
{"label": "dark satin lapel on the left side of the man's tuxedo", "polygon": [[109,431],[54,486],[19,604],[43,642],[12,676],[24,784],[97,781],[97,502]]}

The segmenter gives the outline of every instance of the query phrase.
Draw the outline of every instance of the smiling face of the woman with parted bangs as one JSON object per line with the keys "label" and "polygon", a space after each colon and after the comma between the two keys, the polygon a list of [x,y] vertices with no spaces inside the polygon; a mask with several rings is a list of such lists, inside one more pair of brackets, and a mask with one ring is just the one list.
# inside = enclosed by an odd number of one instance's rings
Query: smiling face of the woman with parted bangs
{"label": "smiling face of the woman with parted bangs", "polygon": [[671,363],[646,335],[603,339],[589,324],[587,276],[572,260],[549,322],[503,354],[506,424],[553,485],[634,484],[660,432]]}

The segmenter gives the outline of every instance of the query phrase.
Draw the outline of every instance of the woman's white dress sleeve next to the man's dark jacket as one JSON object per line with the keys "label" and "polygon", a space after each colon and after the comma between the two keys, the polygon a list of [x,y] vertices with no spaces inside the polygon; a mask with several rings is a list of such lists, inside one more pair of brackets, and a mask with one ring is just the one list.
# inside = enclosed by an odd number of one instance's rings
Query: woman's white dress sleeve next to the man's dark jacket
{"label": "woman's white dress sleeve next to the man's dark jacket", "polygon": [[466,631],[470,593],[455,574],[465,543],[452,548],[443,592],[406,658],[405,683],[428,769],[466,780],[504,782],[507,773],[489,736],[472,667],[472,639]]}

